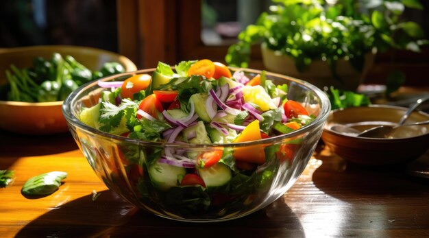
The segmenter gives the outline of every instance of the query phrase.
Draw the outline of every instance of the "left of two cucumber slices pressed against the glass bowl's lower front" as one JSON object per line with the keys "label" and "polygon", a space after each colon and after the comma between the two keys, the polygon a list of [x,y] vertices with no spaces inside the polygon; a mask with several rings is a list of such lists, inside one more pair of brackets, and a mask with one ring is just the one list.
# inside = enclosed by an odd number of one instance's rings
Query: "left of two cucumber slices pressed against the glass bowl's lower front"
{"label": "left of two cucumber slices pressed against the glass bowl's lower front", "polygon": [[185,176],[186,169],[156,160],[149,166],[149,177],[154,186],[160,190],[167,190],[178,185],[178,181]]}

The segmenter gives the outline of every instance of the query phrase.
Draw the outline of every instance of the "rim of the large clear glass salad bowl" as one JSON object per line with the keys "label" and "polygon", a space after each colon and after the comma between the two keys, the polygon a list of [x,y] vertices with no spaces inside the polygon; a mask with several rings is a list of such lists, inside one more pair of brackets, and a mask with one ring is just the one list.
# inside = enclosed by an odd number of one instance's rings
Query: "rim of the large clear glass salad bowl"
{"label": "rim of the large clear glass salad bowl", "polygon": [[[236,68],[236,67],[228,67],[230,68],[232,71],[245,71],[245,73],[262,73],[261,70],[258,69],[247,69],[247,68]],[[99,80],[101,81],[109,81],[112,80],[114,78],[120,78],[123,77],[125,75],[135,75],[137,73],[151,73],[153,71],[155,71],[156,68],[151,68],[151,69],[140,69],[138,71],[133,71],[133,72],[126,72],[126,73],[120,73],[117,75],[110,75],[107,76],[105,78],[101,78]],[[285,139],[290,139],[293,138],[295,136],[299,136],[300,134],[303,134],[305,132],[308,132],[310,130],[312,130],[313,128],[317,127],[317,126],[322,126],[322,130],[323,131],[323,124],[326,123],[326,119],[328,118],[328,115],[330,114],[330,101],[328,96],[326,95],[326,93],[324,93],[320,88],[317,88],[317,86],[314,86],[304,80],[299,80],[296,78],[292,78],[289,77],[287,75],[282,75],[279,73],[272,73],[269,71],[265,71],[266,75],[270,75],[273,77],[277,77],[277,78],[282,78],[284,80],[289,80],[292,82],[295,82],[297,84],[300,85],[304,85],[306,86],[306,88],[310,89],[310,91],[312,91],[313,93],[315,93],[317,95],[317,97],[319,98],[320,101],[320,110],[319,110],[319,115],[313,120],[311,121],[310,124],[303,126],[302,128],[299,128],[297,130],[294,130],[292,132],[286,133],[286,134],[280,134],[278,136],[272,136],[269,137],[267,139],[260,139],[257,141],[245,141],[245,142],[239,142],[239,143],[219,143],[219,144],[215,144],[215,143],[210,143],[210,144],[194,144],[194,143],[186,143],[186,144],[182,144],[182,143],[167,143],[167,142],[158,142],[158,141],[143,141],[140,139],[132,139],[129,137],[125,137],[125,136],[120,136],[117,134],[110,134],[108,132],[103,132],[101,130],[97,130],[95,128],[92,128],[90,126],[87,126],[85,123],[83,123],[82,121],[80,121],[79,119],[77,119],[77,117],[75,117],[75,115],[73,114],[73,112],[71,112],[71,105],[75,104],[75,99],[81,95],[84,91],[86,91],[88,88],[96,86],[97,82],[99,80],[95,80],[92,82],[88,82],[82,86],[80,86],[79,88],[77,88],[77,90],[73,91],[68,97],[66,97],[66,99],[64,100],[64,104],[62,104],[62,113],[67,121],[67,123],[72,124],[73,126],[76,126],[77,128],[81,129],[81,130],[86,130],[87,132],[91,132],[93,134],[97,134],[109,139],[115,139],[117,141],[126,141],[129,143],[137,143],[138,145],[147,145],[147,146],[167,146],[167,147],[186,147],[186,148],[208,148],[208,147],[245,147],[245,146],[252,146],[252,145],[260,145],[260,144],[269,144],[269,143],[273,143],[275,141],[283,141]]]}

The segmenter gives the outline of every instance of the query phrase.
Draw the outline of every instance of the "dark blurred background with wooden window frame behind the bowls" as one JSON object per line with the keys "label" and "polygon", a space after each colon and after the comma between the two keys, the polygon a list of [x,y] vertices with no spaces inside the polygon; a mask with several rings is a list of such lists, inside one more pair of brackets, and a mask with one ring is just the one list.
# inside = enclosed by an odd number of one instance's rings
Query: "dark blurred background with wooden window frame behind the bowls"
{"label": "dark blurred background with wooden window frame behind the bowls", "polygon": [[[5,0],[0,1],[0,48],[80,45],[121,53],[139,69],[158,61],[210,58],[224,62],[237,34],[266,11],[269,0]],[[406,10],[429,36],[429,1],[424,10]],[[393,61],[392,58],[395,58]],[[263,69],[260,49],[249,67]],[[429,86],[429,47],[421,53],[378,54],[365,82],[383,83],[400,69],[406,84]]]}

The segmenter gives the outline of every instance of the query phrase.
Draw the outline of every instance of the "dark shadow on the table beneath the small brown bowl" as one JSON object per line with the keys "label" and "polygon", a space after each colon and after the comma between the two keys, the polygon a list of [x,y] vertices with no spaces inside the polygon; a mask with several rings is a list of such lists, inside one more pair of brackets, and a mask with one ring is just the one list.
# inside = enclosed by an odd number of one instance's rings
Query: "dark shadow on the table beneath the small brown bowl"
{"label": "dark shadow on the table beneath the small brown bowl", "polygon": [[339,200],[427,193],[427,183],[408,176],[406,164],[357,165],[335,154],[318,158],[323,163],[313,173],[312,181],[318,189]]}

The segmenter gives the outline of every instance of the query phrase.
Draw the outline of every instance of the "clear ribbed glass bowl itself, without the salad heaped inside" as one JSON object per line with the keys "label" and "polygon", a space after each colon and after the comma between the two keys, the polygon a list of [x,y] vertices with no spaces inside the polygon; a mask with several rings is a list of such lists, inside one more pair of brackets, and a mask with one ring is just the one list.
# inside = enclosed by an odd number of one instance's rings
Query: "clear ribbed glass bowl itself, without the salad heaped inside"
{"label": "clear ribbed glass bowl itself, without the salad heaped inside", "polygon": [[[235,71],[237,69],[232,69]],[[154,69],[123,73],[103,81],[120,81]],[[252,77],[257,70],[244,69]],[[316,116],[308,125],[288,134],[246,143],[195,145],[156,143],[101,132],[79,121],[79,112],[99,102],[101,88],[90,82],[66,98],[62,106],[71,134],[95,173],[109,189],[135,206],[161,217],[186,222],[219,222],[248,215],[282,196],[302,174],[321,137],[330,102],[319,88],[302,80],[267,72],[274,84],[288,84],[288,99],[302,103]],[[236,176],[221,188],[175,186],[164,189],[151,182],[147,161],[166,150],[188,154],[216,150],[262,150],[266,162],[253,172]],[[134,154],[134,156],[124,156]]]}

